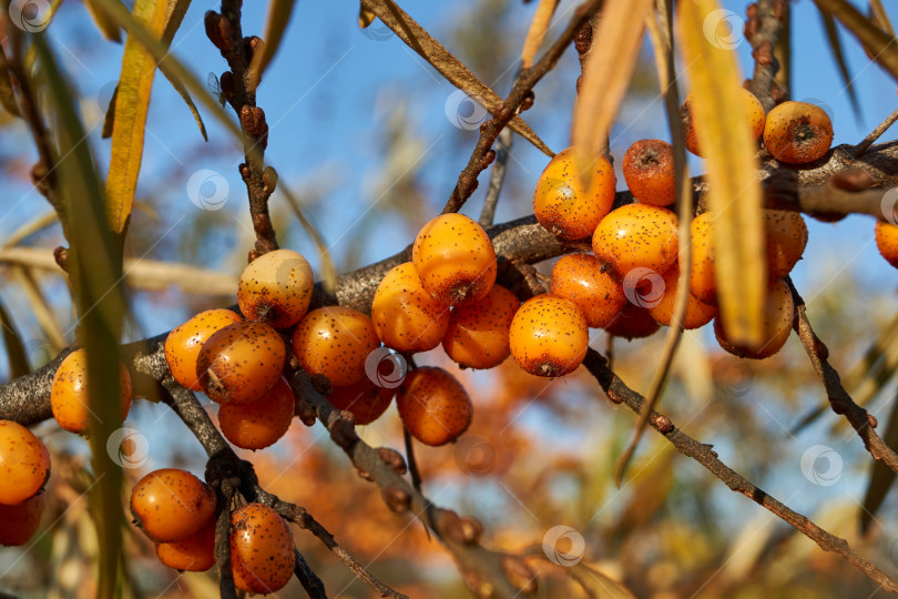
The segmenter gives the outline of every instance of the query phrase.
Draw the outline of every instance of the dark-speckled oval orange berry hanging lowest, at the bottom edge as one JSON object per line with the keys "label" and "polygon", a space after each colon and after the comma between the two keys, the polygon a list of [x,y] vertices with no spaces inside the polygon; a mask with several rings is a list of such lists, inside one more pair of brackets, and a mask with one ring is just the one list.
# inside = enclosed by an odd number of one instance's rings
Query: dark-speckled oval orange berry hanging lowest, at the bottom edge
{"label": "dark-speckled oval orange berry hanging lowest, at the bottom edge", "polygon": [[257,595],[286,585],[295,566],[287,524],[262,504],[246,504],[231,514],[231,568],[234,586]]}

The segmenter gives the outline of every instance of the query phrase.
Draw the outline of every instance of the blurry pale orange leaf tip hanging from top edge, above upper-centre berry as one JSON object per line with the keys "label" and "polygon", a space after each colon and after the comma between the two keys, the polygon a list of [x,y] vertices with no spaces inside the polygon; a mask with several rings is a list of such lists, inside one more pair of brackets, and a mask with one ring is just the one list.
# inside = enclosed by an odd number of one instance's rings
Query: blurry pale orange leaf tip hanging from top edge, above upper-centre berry
{"label": "blurry pale orange leaf tip hanging from top edge, above upper-centre berry", "polygon": [[636,65],[645,17],[653,4],[652,0],[609,0],[604,4],[594,33],[599,42],[583,68],[571,129],[571,144],[581,148],[583,156],[599,155],[605,146]]}

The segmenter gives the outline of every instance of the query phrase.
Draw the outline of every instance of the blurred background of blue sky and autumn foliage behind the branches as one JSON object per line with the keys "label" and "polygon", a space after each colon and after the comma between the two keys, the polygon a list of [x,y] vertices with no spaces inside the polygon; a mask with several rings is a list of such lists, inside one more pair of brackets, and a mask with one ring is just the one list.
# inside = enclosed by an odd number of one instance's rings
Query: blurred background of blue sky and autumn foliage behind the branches
{"label": "blurred background of blue sky and autumn foliage behind the branches", "polygon": [[[481,81],[504,95],[534,4],[463,0],[404,7]],[[562,1],[559,14],[568,14],[575,4]],[[744,14],[744,1],[724,6]],[[203,12],[216,8],[214,2],[193,2],[173,44],[174,53],[202,79],[210,72],[221,74],[224,68],[202,27]],[[381,23],[359,30],[357,10],[348,1],[299,2],[258,94],[272,123],[266,155],[278,165],[279,184],[300,197],[340,272],[401,250],[442,206],[477,139],[477,126],[457,126],[458,119],[469,119],[479,110],[472,104],[447,106],[453,89]],[[263,7],[246,3],[244,11],[244,31],[262,31]],[[856,119],[847,94],[840,91],[836,63],[822,58],[829,53],[829,41],[816,9],[808,0],[799,0],[793,11],[792,97],[824,103],[831,112],[836,143],[856,143],[894,109],[894,82],[843,35],[860,100],[861,115]],[[892,20],[898,19],[895,7],[888,11]],[[565,22],[559,17],[548,39]],[[109,142],[100,139],[100,129],[122,47],[102,38],[76,0],[61,4],[47,33],[81,94],[78,109],[90,130],[89,143],[105,164]],[[747,70],[751,48],[743,42],[738,52]],[[524,114],[557,151],[568,143],[579,74],[571,49],[537,88],[535,104]],[[233,280],[253,241],[237,173],[242,150],[208,115],[210,142],[204,143],[164,78],[156,79],[153,93],[126,255]],[[633,141],[666,139],[663,114],[646,45],[612,133],[618,169]],[[700,161],[693,160],[693,172],[701,172]],[[48,248],[63,242],[59,224],[48,216],[50,206],[31,186],[34,161],[21,121],[0,112],[4,197],[0,300],[32,366],[40,366],[71,343],[73,313],[68,286],[52,261],[28,262],[13,252],[50,255]],[[544,164],[537,150],[517,141],[497,222],[532,212],[532,189]],[[216,171],[228,183],[222,210],[201,210],[186,194],[187,180],[202,169]],[[474,216],[487,177],[488,173],[481,175],[480,190],[466,207]],[[280,244],[315,262],[314,246],[278,194],[272,212]],[[794,273],[796,284],[848,390],[858,394],[885,427],[897,393],[898,276],[877,255],[869,219],[808,224],[810,242]],[[548,274],[551,263],[539,268]],[[174,275],[169,283],[150,285],[143,272],[135,265],[127,276],[127,337],[132,339],[167,331],[196,311],[235,300],[234,293],[197,293],[202,290]],[[705,328],[687,333],[681,344],[662,412],[690,435],[713,444],[724,461],[758,486],[897,575],[898,498],[894,493],[873,518],[869,532],[859,532],[871,470],[860,440],[828,409],[798,427],[825,402],[798,341],[792,338],[774,358],[749,363],[724,354],[714,344],[713,332]],[[661,337],[615,341],[614,367],[631,387],[643,392],[647,387]],[[592,346],[605,349],[604,333],[594,333]],[[871,346],[878,349],[870,353]],[[610,404],[582,369],[547,382],[512,363],[486,373],[460,372],[440,352],[424,355],[419,363],[441,365],[459,376],[476,406],[471,429],[455,446],[419,448],[425,491],[440,505],[480,518],[487,542],[496,547],[533,547],[557,525],[569,526],[585,539],[582,561],[574,568],[547,561],[540,547],[533,550],[530,562],[541,575],[542,597],[585,597],[581,586],[571,583],[573,578],[583,580],[596,597],[626,597],[627,591],[614,581],[635,596],[655,598],[876,595],[863,575],[734,495],[656,435],[646,436],[627,479],[616,489],[612,468],[633,415]],[[202,474],[201,447],[166,407],[139,403],[129,426],[145,435],[150,456],[140,468],[125,470],[125,489],[157,467],[181,466]],[[86,444],[61,433],[54,423],[44,423],[38,430],[53,453],[50,509],[38,542],[27,550],[0,549],[0,589],[21,597],[92,597],[98,555],[93,518],[102,515],[91,515],[84,497],[92,485]],[[375,446],[401,447],[394,408],[361,427],[360,434]],[[815,445],[831,448],[841,460],[830,485],[814,484],[802,471],[800,458]],[[256,465],[263,486],[307,507],[381,580],[414,597],[466,592],[450,557],[419,524],[384,508],[377,489],[358,479],[320,426],[305,428],[296,423],[273,448],[243,454]],[[155,560],[153,547],[135,529],[129,527],[124,535],[129,575],[121,586],[124,597],[216,593],[212,573],[178,576]],[[299,530],[295,538],[329,592],[370,596],[316,539]],[[567,541],[560,542],[557,549],[567,551]],[[295,580],[290,585],[283,596],[302,592]]]}

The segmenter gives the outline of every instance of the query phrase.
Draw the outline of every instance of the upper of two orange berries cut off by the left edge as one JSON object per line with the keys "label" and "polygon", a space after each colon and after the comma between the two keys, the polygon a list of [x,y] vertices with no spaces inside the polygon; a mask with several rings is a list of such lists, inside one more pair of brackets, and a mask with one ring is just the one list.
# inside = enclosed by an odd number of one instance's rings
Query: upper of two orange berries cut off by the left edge
{"label": "upper of two orange berries cut off by the left edge", "polygon": [[50,478],[50,451],[19,423],[0,420],[0,504],[21,504]]}

